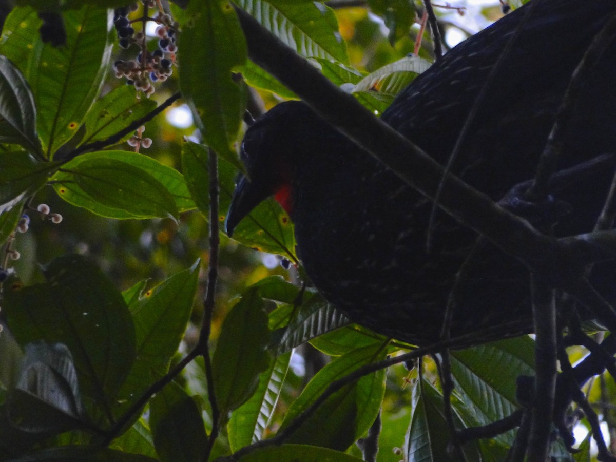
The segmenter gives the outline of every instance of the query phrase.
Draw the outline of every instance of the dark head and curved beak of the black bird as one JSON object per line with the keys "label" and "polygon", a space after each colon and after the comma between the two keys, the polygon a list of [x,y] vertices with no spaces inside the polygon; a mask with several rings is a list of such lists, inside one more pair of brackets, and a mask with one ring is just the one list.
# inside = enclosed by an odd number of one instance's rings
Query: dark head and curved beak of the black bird
{"label": "dark head and curved beak of the black bird", "polygon": [[[248,128],[240,157],[248,176],[238,176],[225,227],[231,236],[240,221],[270,196],[287,213],[293,208],[293,178],[306,140],[325,124],[306,104],[280,103]],[[317,129],[318,130],[318,129]]]}

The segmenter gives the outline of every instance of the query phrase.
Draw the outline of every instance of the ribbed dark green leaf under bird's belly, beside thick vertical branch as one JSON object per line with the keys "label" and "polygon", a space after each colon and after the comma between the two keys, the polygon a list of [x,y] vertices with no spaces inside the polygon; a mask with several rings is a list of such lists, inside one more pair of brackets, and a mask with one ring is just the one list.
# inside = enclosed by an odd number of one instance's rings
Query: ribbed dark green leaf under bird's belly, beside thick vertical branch
{"label": "ribbed dark green leaf under bird's belly, beside thick vertical branch", "polygon": [[[451,352],[456,392],[480,425],[503,419],[519,408],[516,379],[535,375],[534,347],[532,339],[521,336]],[[513,439],[513,431],[496,437],[508,445]]]}

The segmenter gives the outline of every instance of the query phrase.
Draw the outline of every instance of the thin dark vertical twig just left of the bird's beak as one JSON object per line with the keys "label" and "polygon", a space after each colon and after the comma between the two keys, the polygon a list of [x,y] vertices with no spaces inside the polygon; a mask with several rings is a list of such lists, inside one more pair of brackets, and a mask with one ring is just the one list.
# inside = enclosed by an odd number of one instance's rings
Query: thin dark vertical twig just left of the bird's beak
{"label": "thin dark vertical twig just left of the bird's beak", "polygon": [[218,159],[213,150],[209,150],[209,269],[208,269],[208,290],[203,301],[203,323],[199,334],[198,349],[203,355],[205,362],[205,375],[208,381],[208,399],[212,408],[212,431],[208,437],[208,443],[203,450],[203,461],[209,460],[209,455],[214,447],[214,442],[220,431],[220,410],[216,401],[216,390],[214,389],[214,375],[212,371],[212,361],[209,355],[209,334],[211,333],[212,315],[214,312],[214,295],[216,294],[216,280],[218,278],[218,249],[220,245],[218,231]]}

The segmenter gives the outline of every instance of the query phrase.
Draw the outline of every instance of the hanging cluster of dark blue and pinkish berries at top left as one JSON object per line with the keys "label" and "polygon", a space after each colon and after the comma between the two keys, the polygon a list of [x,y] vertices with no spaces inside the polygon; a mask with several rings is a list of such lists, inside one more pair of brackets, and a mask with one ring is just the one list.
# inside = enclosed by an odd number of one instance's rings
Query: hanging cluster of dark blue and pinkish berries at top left
{"label": "hanging cluster of dark blue and pinkish berries at top left", "polygon": [[[116,77],[126,78],[127,83],[134,85],[137,90],[152,94],[153,82],[165,81],[172,73],[172,65],[176,60],[177,30],[179,24],[168,14],[159,11],[154,17],[149,17],[148,8],[155,6],[153,0],[144,1],[144,15],[137,20],[129,20],[128,15],[137,9],[137,4],[115,10],[114,24],[120,38],[120,46],[128,49],[131,44],[136,44],[140,52],[134,60],[118,60],[114,63]],[[147,40],[143,31],[135,32],[132,24],[141,22],[145,30],[145,24],[154,21],[156,36],[158,36],[158,49],[148,51]]]}

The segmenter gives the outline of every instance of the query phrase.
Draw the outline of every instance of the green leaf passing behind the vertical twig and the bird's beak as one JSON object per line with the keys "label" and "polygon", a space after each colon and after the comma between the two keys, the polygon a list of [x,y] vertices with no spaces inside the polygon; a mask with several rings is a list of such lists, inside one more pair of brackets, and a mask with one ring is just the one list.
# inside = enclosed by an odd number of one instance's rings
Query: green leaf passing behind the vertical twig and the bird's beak
{"label": "green leaf passing behind the vertical twig and the bird's beak", "polygon": [[[209,216],[209,168],[208,148],[204,145],[187,142],[182,146],[182,171],[188,189],[195,203],[206,217]],[[224,222],[235,190],[236,171],[231,164],[221,161],[218,164],[220,191],[219,220]],[[233,239],[244,245],[265,252],[294,256],[295,236],[288,214],[274,199],[261,203],[248,217],[241,221],[233,233]]]}

